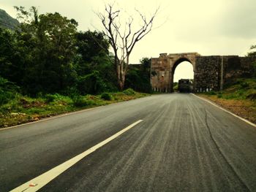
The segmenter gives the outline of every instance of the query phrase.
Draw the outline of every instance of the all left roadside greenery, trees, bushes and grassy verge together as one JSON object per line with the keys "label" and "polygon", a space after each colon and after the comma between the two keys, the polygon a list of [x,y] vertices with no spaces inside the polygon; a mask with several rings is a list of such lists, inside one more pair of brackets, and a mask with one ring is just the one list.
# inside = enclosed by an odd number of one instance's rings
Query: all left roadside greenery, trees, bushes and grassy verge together
{"label": "all left roadside greenery, trees, bushes and grassy verge together", "polygon": [[0,27],[0,128],[151,93],[148,58],[126,69],[120,88],[105,34],[78,31],[58,12],[15,8],[18,28]]}

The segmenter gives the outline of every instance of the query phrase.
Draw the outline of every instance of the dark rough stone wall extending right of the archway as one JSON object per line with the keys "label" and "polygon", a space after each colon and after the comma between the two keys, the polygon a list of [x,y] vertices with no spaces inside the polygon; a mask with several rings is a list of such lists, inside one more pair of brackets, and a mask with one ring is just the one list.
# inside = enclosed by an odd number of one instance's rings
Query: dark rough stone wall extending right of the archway
{"label": "dark rough stone wall extending right of the archway", "polygon": [[[222,74],[223,59],[223,74]],[[252,77],[254,58],[227,56],[199,56],[196,58],[195,92],[219,91],[223,75],[223,87],[241,77]]]}

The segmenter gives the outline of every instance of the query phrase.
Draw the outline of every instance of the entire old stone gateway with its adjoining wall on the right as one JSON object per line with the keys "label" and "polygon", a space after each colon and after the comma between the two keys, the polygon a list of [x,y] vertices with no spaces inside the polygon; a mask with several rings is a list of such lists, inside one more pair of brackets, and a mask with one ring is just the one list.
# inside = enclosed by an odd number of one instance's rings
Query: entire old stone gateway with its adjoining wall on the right
{"label": "entire old stone gateway with its adjoining wall on the right", "polygon": [[151,58],[151,85],[154,91],[173,92],[173,74],[176,66],[189,61],[194,71],[194,91],[219,91],[225,82],[237,77],[251,77],[255,58],[238,55],[201,56],[198,53],[161,53]]}

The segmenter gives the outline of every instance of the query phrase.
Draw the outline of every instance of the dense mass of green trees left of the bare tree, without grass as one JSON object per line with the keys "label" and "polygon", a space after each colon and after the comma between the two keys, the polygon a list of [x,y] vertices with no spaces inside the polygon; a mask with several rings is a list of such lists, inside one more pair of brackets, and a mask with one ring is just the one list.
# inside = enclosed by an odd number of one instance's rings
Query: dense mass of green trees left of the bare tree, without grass
{"label": "dense mass of green trees left of the bare tree, without grass", "polygon": [[39,15],[16,7],[20,29],[0,28],[0,76],[30,96],[116,91],[109,43],[97,31],[78,32],[78,23],[59,13]]}

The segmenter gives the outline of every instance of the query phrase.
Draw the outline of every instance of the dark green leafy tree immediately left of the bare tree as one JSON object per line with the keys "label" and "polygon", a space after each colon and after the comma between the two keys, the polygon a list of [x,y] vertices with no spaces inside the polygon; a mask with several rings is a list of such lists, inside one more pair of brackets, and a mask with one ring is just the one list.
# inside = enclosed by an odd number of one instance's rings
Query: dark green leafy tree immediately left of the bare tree
{"label": "dark green leafy tree immediately left of the bare tree", "polygon": [[[109,46],[108,40],[101,32],[86,31],[77,34],[78,63],[76,71],[79,76],[78,90],[82,93],[86,93],[86,91],[89,91],[87,93],[116,91],[116,70],[113,56],[110,56],[108,52]],[[91,78],[95,76],[95,72],[98,77]],[[100,84],[100,86],[97,86],[97,89],[86,88],[91,87],[90,83]]]}

